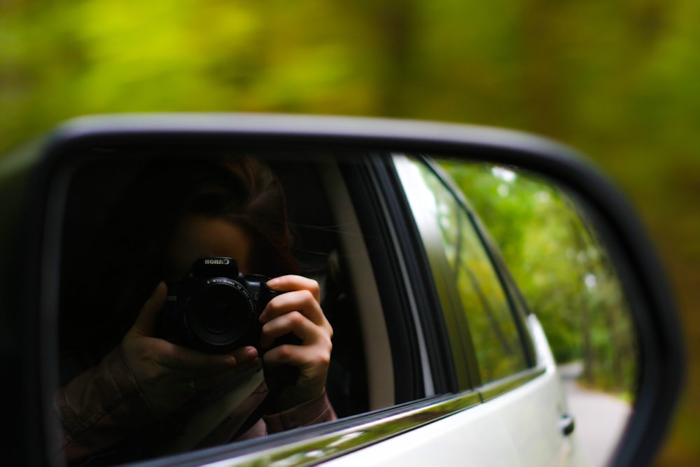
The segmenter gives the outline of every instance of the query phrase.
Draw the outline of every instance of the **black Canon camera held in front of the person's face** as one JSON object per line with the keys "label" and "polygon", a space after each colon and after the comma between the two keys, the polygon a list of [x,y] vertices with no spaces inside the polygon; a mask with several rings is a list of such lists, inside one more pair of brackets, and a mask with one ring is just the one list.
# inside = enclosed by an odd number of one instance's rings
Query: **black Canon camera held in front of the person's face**
{"label": "black Canon camera held in front of the person's face", "polygon": [[155,335],[212,354],[260,347],[260,314],[282,292],[259,274],[241,274],[233,258],[200,258],[181,281],[167,282],[168,295]]}

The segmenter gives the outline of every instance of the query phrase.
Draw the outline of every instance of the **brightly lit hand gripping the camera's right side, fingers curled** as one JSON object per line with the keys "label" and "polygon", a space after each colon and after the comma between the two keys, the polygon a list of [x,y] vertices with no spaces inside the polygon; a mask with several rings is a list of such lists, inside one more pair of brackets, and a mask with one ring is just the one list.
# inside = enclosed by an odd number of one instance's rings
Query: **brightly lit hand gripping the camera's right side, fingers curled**
{"label": "brightly lit hand gripping the camera's right side, fingers curled", "polygon": [[[316,398],[325,390],[333,329],[321,309],[318,282],[288,275],[270,279],[267,286],[286,293],[270,300],[260,314],[260,346],[272,347],[277,337],[289,333],[301,341],[298,345],[273,347],[262,356],[265,367],[273,372],[281,365],[292,365],[298,370],[295,384],[283,389],[277,401],[278,408],[284,410]],[[265,371],[267,378],[268,370]]]}

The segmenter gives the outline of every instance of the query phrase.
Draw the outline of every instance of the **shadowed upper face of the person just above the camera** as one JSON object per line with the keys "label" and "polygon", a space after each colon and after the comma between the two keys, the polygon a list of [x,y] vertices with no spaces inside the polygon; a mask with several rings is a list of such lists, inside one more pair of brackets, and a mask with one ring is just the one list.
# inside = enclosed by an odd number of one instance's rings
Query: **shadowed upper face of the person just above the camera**
{"label": "shadowed upper face of the person just above the camera", "polygon": [[239,271],[250,272],[248,253],[251,237],[239,225],[226,218],[185,216],[177,225],[169,246],[171,279],[182,279],[195,260],[210,256],[228,256],[238,261]]}

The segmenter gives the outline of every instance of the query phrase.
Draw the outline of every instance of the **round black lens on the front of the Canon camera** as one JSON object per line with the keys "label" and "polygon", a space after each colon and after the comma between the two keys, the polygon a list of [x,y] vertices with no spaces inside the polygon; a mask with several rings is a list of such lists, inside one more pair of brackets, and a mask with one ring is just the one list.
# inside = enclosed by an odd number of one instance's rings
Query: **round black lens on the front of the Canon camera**
{"label": "round black lens on the front of the Canon camera", "polygon": [[193,296],[188,308],[193,333],[215,346],[229,346],[239,340],[253,314],[246,295],[228,284],[203,288]]}

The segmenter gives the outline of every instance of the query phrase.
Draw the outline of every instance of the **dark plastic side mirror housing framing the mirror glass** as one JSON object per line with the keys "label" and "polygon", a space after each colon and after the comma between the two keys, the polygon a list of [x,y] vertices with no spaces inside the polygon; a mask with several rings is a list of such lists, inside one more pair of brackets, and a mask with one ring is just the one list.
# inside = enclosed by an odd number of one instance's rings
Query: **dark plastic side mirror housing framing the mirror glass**
{"label": "dark plastic side mirror housing framing the mirror glass", "polygon": [[[175,153],[207,158],[221,151],[274,154],[285,163],[309,155],[330,160],[437,155],[514,167],[559,187],[585,211],[598,233],[622,284],[638,345],[633,412],[614,463],[636,466],[653,458],[668,428],[684,370],[675,303],[633,209],[581,155],[528,134],[468,125],[163,114],[78,118],[0,160],[0,361],[6,371],[1,404],[6,424],[13,427],[2,443],[8,463],[55,461],[61,245],[76,170],[100,158],[129,169],[153,154],[167,162]],[[97,181],[95,186],[109,182]],[[83,212],[85,216],[104,214],[97,206],[85,206],[92,209]],[[90,265],[85,265],[89,272]]]}

